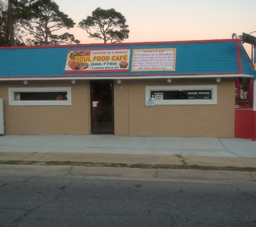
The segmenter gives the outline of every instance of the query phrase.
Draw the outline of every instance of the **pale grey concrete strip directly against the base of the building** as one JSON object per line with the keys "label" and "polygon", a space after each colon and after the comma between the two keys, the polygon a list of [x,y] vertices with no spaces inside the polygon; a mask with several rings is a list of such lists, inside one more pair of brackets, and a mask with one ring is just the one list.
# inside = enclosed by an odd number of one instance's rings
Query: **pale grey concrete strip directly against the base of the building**
{"label": "pale grey concrete strip directly against the base of the building", "polygon": [[233,138],[6,135],[0,137],[0,152],[178,154],[256,158],[256,142]]}

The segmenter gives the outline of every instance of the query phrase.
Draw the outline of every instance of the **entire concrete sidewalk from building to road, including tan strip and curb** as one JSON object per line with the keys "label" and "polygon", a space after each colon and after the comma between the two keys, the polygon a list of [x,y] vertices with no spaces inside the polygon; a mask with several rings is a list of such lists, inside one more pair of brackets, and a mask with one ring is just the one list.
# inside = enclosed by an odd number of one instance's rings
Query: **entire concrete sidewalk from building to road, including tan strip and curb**
{"label": "entire concrete sidewalk from building to road, including tan strip and curb", "polygon": [[[16,164],[7,165],[8,161]],[[64,162],[72,162],[66,165]],[[124,177],[256,182],[256,143],[244,139],[121,137],[111,135],[0,137],[0,175],[64,178]],[[54,162],[54,165],[47,165]],[[56,162],[59,162],[57,164]],[[75,162],[93,166],[77,166]],[[14,163],[14,162],[13,162]],[[101,166],[97,166],[101,164]],[[102,165],[103,164],[103,165]],[[109,167],[114,164],[115,167]],[[120,164],[126,167],[118,167]],[[158,167],[143,167],[143,165]],[[139,165],[130,168],[129,165]],[[174,165],[184,169],[166,169]],[[196,170],[188,166],[251,168]],[[128,166],[128,167],[127,167]],[[218,169],[218,168],[217,168]]]}

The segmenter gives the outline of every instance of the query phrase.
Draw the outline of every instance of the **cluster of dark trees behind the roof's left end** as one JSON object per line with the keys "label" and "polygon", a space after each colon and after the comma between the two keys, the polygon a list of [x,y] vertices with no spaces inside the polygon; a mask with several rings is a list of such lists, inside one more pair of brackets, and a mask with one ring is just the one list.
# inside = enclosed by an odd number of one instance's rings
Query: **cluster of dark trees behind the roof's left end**
{"label": "cluster of dark trees behind the roof's left end", "polygon": [[74,25],[52,0],[0,0],[0,46],[78,44],[57,32]]}

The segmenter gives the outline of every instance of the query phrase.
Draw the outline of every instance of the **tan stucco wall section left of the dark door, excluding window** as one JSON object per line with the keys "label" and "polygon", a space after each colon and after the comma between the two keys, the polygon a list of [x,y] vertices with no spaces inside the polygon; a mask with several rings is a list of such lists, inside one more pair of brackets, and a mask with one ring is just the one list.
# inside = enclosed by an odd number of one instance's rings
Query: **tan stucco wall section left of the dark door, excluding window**
{"label": "tan stucco wall section left of the dark door, excluding window", "polygon": [[[72,105],[9,106],[8,87],[71,87]],[[88,82],[1,82],[5,134],[89,134]]]}

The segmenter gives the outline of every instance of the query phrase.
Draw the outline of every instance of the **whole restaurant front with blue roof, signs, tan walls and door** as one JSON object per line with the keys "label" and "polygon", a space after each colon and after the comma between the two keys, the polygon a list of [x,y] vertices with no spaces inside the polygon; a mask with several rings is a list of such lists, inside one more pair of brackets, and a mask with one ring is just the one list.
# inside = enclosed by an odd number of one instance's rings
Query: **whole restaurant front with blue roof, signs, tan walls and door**
{"label": "whole restaurant front with blue roof, signs, tan walls and door", "polygon": [[5,134],[234,137],[238,39],[0,48]]}

